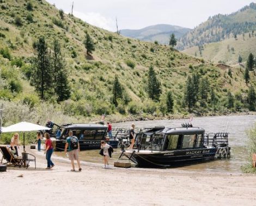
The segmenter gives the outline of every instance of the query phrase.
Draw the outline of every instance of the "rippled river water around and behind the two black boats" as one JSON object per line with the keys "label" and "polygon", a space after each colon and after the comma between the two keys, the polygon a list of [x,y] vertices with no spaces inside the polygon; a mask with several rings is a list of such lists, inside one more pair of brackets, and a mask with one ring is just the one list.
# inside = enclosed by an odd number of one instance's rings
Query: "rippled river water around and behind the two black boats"
{"label": "rippled river water around and behind the two black boats", "polygon": [[[130,128],[135,123],[137,128],[166,126],[180,127],[182,123],[188,120],[149,120],[135,121],[125,123],[115,123],[112,127]],[[206,133],[210,132],[229,132],[229,146],[231,147],[231,157],[229,159],[218,159],[209,162],[181,165],[180,170],[194,171],[217,171],[217,172],[241,172],[241,166],[247,163],[248,151],[246,149],[247,136],[246,131],[252,128],[256,121],[256,115],[234,115],[234,116],[216,116],[216,117],[194,117],[193,126],[205,128]],[[55,152],[58,156],[65,157],[64,152]],[[113,165],[120,155],[120,149],[115,149],[110,163]],[[99,150],[87,150],[80,152],[80,159],[88,162],[102,163]]]}

